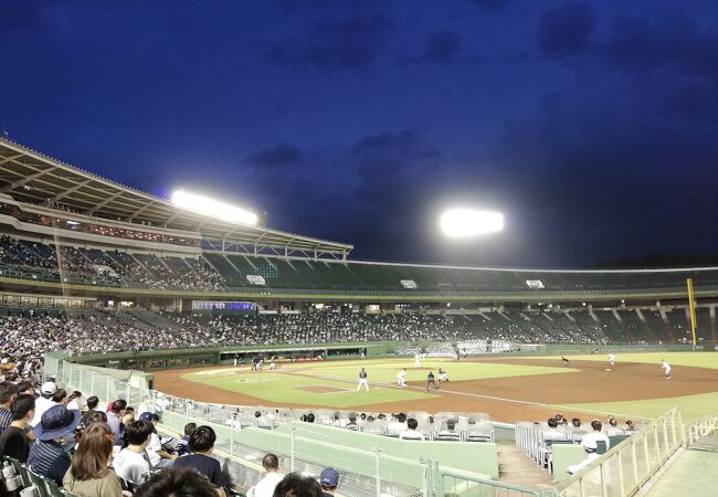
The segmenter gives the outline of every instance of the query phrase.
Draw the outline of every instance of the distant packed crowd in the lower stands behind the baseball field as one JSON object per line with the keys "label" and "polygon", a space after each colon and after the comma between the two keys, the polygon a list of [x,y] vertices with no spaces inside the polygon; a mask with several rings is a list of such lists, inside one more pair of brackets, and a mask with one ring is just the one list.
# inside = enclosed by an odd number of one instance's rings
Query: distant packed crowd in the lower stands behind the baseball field
{"label": "distant packed crowd in the lower stands behind the baseball field", "polygon": [[[146,314],[152,316],[149,311]],[[0,350],[6,360],[23,368],[36,368],[49,350],[103,353],[215,345],[431,341],[429,352],[424,352],[448,355],[455,350],[453,343],[460,345],[462,353],[487,350],[487,340],[494,337],[490,331],[477,327],[476,320],[419,313],[369,315],[314,310],[231,317],[171,313],[156,316],[159,325],[140,322],[131,315],[119,313],[88,311],[84,317],[65,318],[40,316],[28,309],[23,316],[0,317]],[[524,331],[511,335],[509,330],[510,326],[501,334],[501,339],[494,338],[501,350],[508,341],[520,343],[527,338]],[[593,341],[590,337],[579,331],[573,337],[563,336],[566,342],[606,341],[605,337],[595,337]],[[411,353],[420,352],[411,350]]]}

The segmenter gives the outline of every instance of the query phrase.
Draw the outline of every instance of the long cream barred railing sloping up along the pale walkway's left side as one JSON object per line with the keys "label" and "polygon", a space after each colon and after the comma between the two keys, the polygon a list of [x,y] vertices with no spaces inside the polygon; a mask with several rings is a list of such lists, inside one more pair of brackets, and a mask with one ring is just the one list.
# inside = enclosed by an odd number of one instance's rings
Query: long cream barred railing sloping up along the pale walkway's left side
{"label": "long cream barred railing sloping up along the pale walkway's left side", "polygon": [[559,483],[556,490],[560,497],[632,496],[683,446],[680,411],[674,408]]}

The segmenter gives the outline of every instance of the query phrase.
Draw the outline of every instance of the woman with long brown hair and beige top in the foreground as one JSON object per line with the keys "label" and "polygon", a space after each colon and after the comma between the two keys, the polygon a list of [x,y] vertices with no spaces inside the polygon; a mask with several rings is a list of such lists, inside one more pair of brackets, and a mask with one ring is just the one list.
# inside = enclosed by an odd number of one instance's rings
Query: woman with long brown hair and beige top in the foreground
{"label": "woman with long brown hair and beige top in the foreground", "polygon": [[122,497],[119,479],[107,467],[113,452],[113,432],[107,423],[92,423],[83,432],[63,487],[77,497]]}

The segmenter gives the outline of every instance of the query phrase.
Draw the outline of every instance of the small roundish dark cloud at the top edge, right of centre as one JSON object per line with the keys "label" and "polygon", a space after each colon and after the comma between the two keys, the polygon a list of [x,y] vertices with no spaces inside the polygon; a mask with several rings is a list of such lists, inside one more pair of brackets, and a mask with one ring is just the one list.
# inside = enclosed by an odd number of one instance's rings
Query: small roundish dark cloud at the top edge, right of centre
{"label": "small roundish dark cloud at the top edge, right of centre", "polygon": [[539,47],[547,56],[576,54],[588,45],[595,25],[591,8],[582,2],[567,2],[546,9],[539,21]]}

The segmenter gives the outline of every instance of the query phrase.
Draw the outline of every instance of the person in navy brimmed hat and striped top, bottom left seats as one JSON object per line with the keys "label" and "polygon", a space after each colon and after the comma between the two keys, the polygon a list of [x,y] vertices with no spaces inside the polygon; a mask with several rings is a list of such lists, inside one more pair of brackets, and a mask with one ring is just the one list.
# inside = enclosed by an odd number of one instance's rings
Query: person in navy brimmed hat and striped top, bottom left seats
{"label": "person in navy brimmed hat and striped top, bottom left seats", "polygon": [[62,485],[70,467],[70,455],[62,442],[77,427],[81,416],[80,411],[71,411],[64,405],[53,405],[44,412],[32,430],[36,441],[30,448],[28,464],[33,472]]}

